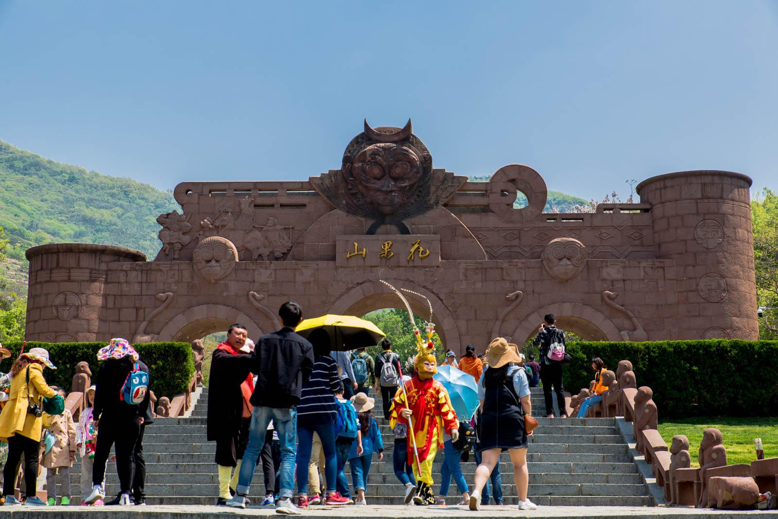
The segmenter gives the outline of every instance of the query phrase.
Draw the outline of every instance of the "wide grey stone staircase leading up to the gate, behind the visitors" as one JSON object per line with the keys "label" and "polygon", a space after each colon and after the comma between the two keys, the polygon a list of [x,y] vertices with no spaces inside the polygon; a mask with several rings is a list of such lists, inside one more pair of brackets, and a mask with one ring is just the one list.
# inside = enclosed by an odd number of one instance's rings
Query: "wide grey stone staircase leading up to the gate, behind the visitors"
{"label": "wide grey stone staircase leading up to the gate, behind the visitors", "polygon": [[[530,485],[528,495],[541,506],[653,506],[643,477],[629,455],[612,418],[546,419],[542,390],[533,388],[531,401],[540,425],[531,437],[527,455]],[[371,391],[371,395],[372,394]],[[145,430],[143,451],[146,459],[146,495],[149,504],[213,504],[218,495],[218,479],[213,456],[216,444],[205,440],[205,412],[208,388],[203,387],[189,418],[158,418]],[[384,460],[373,457],[367,502],[374,505],[401,504],[404,487],[394,476],[391,454],[394,438],[384,422],[380,398],[376,408],[384,438]],[[435,491],[440,484],[439,454],[434,465]],[[475,460],[462,463],[464,477],[472,488]],[[503,502],[516,502],[513,468],[503,453]],[[72,484],[79,484],[80,466],[72,469]],[[351,482],[349,465],[346,475]],[[108,495],[118,491],[114,465],[107,470]],[[75,490],[75,488],[74,488]],[[250,496],[258,503],[265,495],[261,468],[254,475]],[[457,504],[459,493],[452,483],[448,503]],[[493,501],[492,501],[493,503]]]}

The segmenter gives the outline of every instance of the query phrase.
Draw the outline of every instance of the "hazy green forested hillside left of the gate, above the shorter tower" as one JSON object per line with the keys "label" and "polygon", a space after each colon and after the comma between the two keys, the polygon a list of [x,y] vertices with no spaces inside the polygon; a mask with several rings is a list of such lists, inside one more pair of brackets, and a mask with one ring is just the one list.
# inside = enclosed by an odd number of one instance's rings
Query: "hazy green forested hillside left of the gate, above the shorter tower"
{"label": "hazy green forested hillside left of the gate, above the shorter tower", "polygon": [[178,207],[172,192],[130,178],[44,159],[0,141],[0,226],[6,254],[20,261],[35,244],[83,242],[154,256],[156,217]]}

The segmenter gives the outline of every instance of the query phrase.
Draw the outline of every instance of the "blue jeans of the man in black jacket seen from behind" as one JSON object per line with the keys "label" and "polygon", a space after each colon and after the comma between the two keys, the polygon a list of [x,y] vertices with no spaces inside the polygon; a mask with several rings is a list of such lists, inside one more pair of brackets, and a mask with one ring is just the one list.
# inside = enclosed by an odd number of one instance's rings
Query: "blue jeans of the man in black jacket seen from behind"
{"label": "blue jeans of the man in black jacket seen from behind", "polygon": [[[251,413],[251,426],[248,432],[248,446],[240,464],[237,493],[248,495],[251,479],[254,478],[254,468],[262,447],[265,445],[265,434],[268,424],[273,420],[275,432],[281,442],[281,470],[279,471],[279,497],[292,497],[294,493],[294,458],[297,443],[297,409],[275,409],[272,407],[255,407]],[[310,456],[310,454],[309,454]],[[307,468],[307,467],[306,467]],[[307,478],[306,478],[307,479]]]}

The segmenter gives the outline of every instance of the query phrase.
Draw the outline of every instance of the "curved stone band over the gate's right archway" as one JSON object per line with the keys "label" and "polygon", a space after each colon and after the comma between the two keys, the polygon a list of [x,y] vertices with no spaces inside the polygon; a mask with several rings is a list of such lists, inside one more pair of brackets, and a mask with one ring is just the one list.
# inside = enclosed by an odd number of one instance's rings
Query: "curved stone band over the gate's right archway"
{"label": "curved stone band over the gate's right archway", "polygon": [[524,317],[516,331],[513,332],[513,342],[519,347],[538,332],[545,314],[554,314],[556,325],[562,330],[572,331],[587,340],[623,341],[622,334],[616,325],[598,310],[580,303],[554,303],[535,310]]}

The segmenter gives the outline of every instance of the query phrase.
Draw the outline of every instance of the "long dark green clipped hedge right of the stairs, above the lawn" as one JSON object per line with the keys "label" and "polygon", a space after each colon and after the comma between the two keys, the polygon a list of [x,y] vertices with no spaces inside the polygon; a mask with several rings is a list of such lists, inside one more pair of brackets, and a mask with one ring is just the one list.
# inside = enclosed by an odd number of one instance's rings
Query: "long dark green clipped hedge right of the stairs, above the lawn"
{"label": "long dark green clipped hedge right of the stairs, above the lawn", "polygon": [[778,341],[569,342],[564,385],[576,394],[594,378],[591,358],[609,370],[632,361],[638,386],[654,390],[659,416],[778,416]]}

